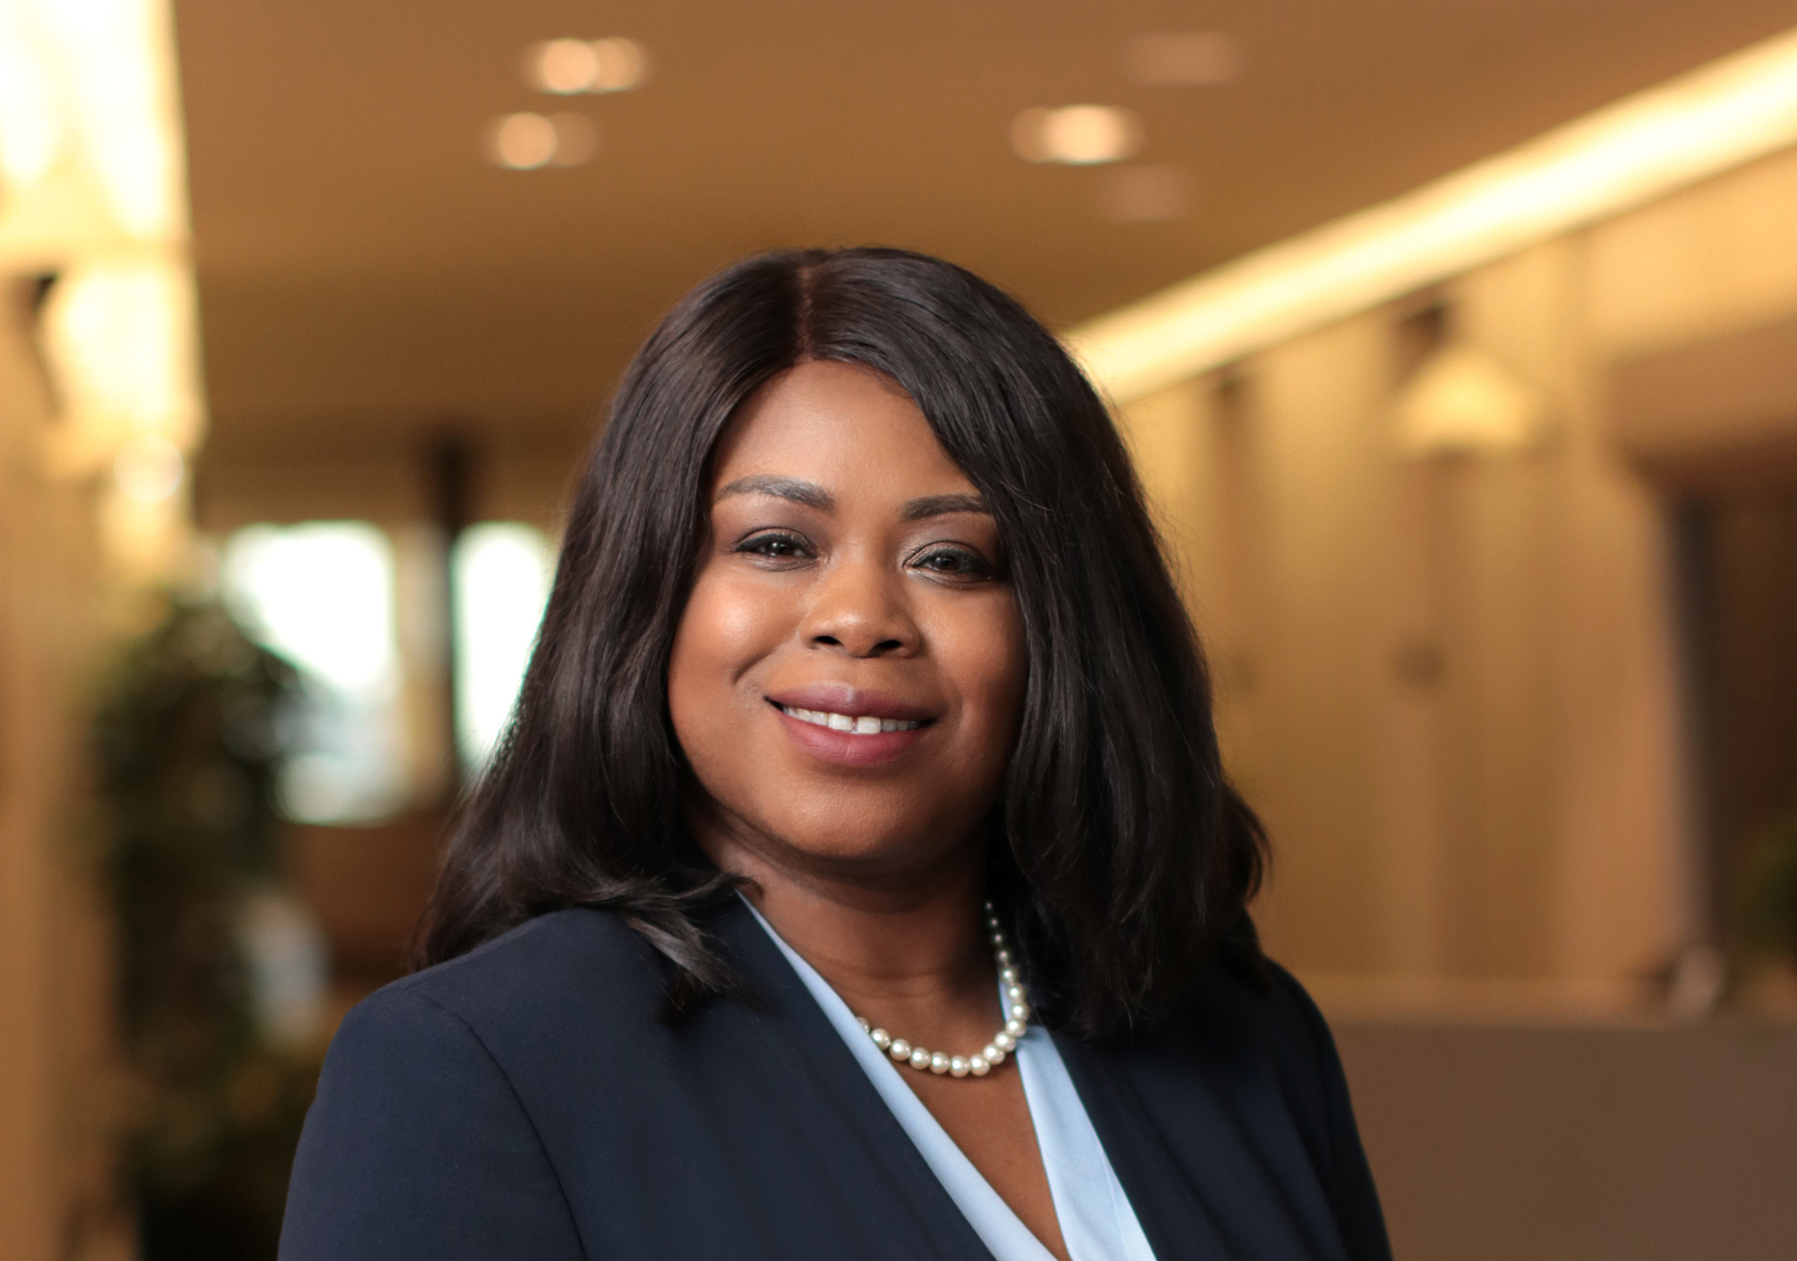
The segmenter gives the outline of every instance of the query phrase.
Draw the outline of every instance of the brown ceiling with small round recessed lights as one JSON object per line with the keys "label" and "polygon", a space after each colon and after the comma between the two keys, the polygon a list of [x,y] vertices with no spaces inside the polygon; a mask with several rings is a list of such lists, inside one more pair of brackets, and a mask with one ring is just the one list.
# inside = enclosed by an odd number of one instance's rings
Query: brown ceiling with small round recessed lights
{"label": "brown ceiling with small round recessed lights", "polygon": [[[945,255],[1066,325],[1504,149],[1797,20],[1786,0],[176,0],[208,458],[354,456],[464,426],[584,431],[658,313],[791,244]],[[1217,29],[1240,81],[1148,88],[1143,32]],[[638,92],[543,97],[523,48],[647,45]],[[1114,102],[1190,214],[1121,225],[1103,169],[1010,153]],[[514,110],[588,113],[582,167],[501,171]]]}

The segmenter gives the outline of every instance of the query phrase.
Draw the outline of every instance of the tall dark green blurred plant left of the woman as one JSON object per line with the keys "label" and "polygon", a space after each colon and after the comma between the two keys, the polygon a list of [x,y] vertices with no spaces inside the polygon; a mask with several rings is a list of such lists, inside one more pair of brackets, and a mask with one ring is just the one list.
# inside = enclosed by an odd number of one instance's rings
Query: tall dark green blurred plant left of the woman
{"label": "tall dark green blurred plant left of the woman", "polygon": [[174,596],[101,681],[97,859],[140,1101],[126,1180],[146,1261],[275,1256],[318,1063],[262,1040],[239,922],[279,873],[293,688],[217,604]]}

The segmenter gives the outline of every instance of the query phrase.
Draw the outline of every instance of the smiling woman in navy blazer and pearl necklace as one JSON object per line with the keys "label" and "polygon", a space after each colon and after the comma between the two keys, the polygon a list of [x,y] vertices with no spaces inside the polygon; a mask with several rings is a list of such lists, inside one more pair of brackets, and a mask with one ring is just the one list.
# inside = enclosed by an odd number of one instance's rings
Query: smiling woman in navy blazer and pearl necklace
{"label": "smiling woman in navy blazer and pearl necklace", "polygon": [[1058,343],[915,253],[737,264],[625,374],[282,1256],[1385,1257],[1260,871]]}

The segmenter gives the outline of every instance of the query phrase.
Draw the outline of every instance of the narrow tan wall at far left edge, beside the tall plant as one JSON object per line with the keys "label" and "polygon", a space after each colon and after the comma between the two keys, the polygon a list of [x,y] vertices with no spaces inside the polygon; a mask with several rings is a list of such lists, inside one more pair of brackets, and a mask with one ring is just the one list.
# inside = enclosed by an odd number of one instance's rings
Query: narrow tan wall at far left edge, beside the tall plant
{"label": "narrow tan wall at far left edge, beside the tall plant", "polygon": [[49,395],[0,296],[0,1252],[117,1256],[108,938],[77,859],[93,510],[41,476]]}

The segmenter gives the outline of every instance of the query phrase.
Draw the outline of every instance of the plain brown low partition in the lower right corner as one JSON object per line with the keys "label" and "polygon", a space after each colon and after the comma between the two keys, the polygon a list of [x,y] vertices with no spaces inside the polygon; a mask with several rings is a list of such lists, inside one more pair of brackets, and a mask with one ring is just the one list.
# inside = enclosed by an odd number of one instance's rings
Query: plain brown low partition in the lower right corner
{"label": "plain brown low partition in the lower right corner", "polygon": [[1398,1261],[1792,1261],[1797,1024],[1335,1024]]}

